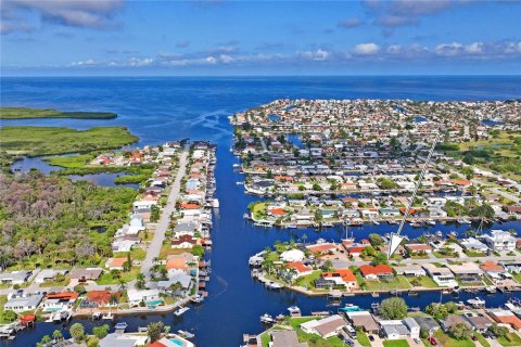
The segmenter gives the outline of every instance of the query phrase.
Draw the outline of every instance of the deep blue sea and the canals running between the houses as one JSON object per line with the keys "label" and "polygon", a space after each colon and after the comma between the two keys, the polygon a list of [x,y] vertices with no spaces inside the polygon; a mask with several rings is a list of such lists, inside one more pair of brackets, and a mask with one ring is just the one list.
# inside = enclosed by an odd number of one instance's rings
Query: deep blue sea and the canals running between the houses
{"label": "deep blue sea and the canals running between the houses", "polygon": [[[198,346],[238,346],[243,333],[263,330],[259,317],[265,312],[287,313],[293,305],[304,313],[325,310],[326,298],[307,298],[290,292],[269,292],[250,277],[247,258],[276,240],[308,241],[323,237],[339,241],[343,231],[331,228],[314,230],[264,229],[245,222],[242,215],[252,196],[236,184],[244,178],[232,170],[238,163],[229,152],[231,128],[227,117],[234,112],[258,106],[279,98],[320,99],[412,99],[412,100],[506,100],[521,94],[521,77],[278,77],[278,78],[5,78],[1,83],[3,106],[56,107],[61,110],[110,111],[119,115],[112,120],[30,119],[3,120],[1,125],[68,126],[86,129],[92,126],[124,125],[140,137],[141,144],[157,144],[167,140],[191,138],[217,143],[217,197],[220,210],[215,216],[209,253],[212,277],[207,284],[209,297],[182,317],[174,314],[125,317],[127,331],[135,331],[150,321],[163,320],[179,329],[193,332]],[[521,229],[520,223],[494,226]],[[463,232],[467,226],[439,226],[430,231]],[[488,226],[487,228],[491,228]],[[371,232],[386,233],[396,227],[386,224],[354,229],[356,237]],[[425,230],[407,227],[405,233],[417,236]],[[518,294],[516,294],[518,295]],[[461,294],[457,300],[475,296]],[[360,307],[384,298],[357,296],[344,299]],[[406,297],[412,307],[423,308],[431,301],[444,301],[450,296],[425,293]],[[507,296],[487,296],[487,306],[499,306]],[[334,308],[331,308],[334,310]],[[99,322],[81,321],[87,331]],[[45,334],[59,325],[38,323],[22,332],[9,346],[34,346]],[[2,345],[2,346],[3,346]]]}

